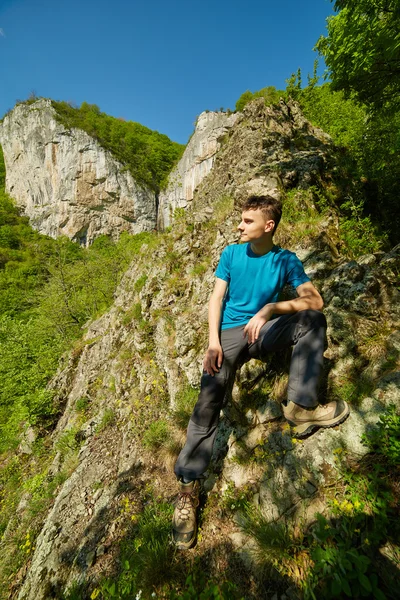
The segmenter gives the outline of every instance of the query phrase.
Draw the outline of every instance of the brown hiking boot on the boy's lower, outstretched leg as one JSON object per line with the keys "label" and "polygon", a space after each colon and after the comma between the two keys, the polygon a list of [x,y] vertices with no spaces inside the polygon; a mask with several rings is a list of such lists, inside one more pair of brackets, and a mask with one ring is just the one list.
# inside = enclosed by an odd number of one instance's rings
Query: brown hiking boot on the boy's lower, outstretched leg
{"label": "brown hiking boot on the boy's lower, outstretched leg", "polygon": [[179,494],[172,519],[172,537],[180,550],[188,550],[196,541],[200,485],[198,480],[179,482]]}

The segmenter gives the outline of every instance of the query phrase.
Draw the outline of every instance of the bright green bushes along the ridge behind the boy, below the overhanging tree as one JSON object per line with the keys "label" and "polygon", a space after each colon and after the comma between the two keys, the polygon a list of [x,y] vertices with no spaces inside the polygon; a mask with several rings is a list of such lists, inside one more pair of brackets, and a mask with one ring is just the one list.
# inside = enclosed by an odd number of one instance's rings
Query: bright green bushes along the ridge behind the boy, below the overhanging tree
{"label": "bright green bushes along the ridge behind the boy, below the overhanging tree", "polygon": [[[284,92],[274,88],[271,93],[266,92],[271,88],[247,91],[239,98],[236,108],[242,110],[248,102],[260,96],[265,96],[267,103],[275,103],[279,96],[297,100],[313,125],[326,131],[335,144],[347,150],[337,154],[336,179],[341,180],[345,189],[353,186],[359,196],[357,205],[361,212],[356,219],[355,231],[350,231],[353,223],[347,222],[346,207],[342,225],[350,244],[360,248],[355,254],[363,253],[361,247],[368,240],[368,246],[374,245],[377,239],[385,243],[382,231],[396,244],[400,227],[400,110],[372,113],[366,105],[357,101],[354,94],[346,97],[344,92],[333,90],[329,83],[318,85],[316,72],[317,63],[305,87],[302,87],[298,70],[287,80]],[[347,191],[345,193],[347,195]]]}

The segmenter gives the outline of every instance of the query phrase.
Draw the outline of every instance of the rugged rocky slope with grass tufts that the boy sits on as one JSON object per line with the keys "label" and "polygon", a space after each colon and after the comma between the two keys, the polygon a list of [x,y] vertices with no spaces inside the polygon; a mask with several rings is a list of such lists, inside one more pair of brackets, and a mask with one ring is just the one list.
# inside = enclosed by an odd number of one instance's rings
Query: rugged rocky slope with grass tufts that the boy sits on
{"label": "rugged rocky slope with grass tufts that the boy sits on", "polygon": [[[237,239],[238,200],[246,191],[295,195],[297,217],[282,222],[276,242],[298,253],[325,299],[329,347],[323,396],[334,399],[361,379],[370,387],[342,426],[295,443],[281,417],[284,357],[267,366],[244,365],[221,417],[205,482],[211,508],[203,515],[202,540],[191,551],[196,559],[212,556],[219,568],[219,560],[225,564],[222,550],[218,554],[224,547],[251,563],[252,540],[241,531],[240,515],[220,519],[227,490],[245,494],[268,522],[282,516],[311,522],[317,511],[327,510],[326,488],[340,480],[336,450],[359,460],[367,452],[362,433],[389,403],[400,406],[393,366],[400,348],[395,287],[400,248],[357,261],[343,253],[337,214],[334,208],[318,213],[312,187],[335,183],[327,169],[335,168],[335,151],[295,104],[250,104],[236,117],[196,191],[188,184],[190,210],[176,217],[171,233],[159,236],[151,251],[142,248],[115,305],[89,326],[51,383],[65,409],[52,436],[46,477],[64,475],[66,481],[57,488],[30,562],[19,575],[20,600],[62,597],[76,582],[85,589],[82,598],[90,597],[102,577],[114,573],[116,549],[127,541],[130,519],[148,503],[146,490],[152,489],[157,501],[172,501],[172,465],[187,423],[179,417],[182,397],[199,383],[213,273],[222,249]],[[182,173],[194,170],[187,162]],[[82,399],[84,413],[78,408]],[[186,406],[188,415],[190,410]],[[163,435],[149,450],[146,435],[155,423],[163,424]],[[66,435],[80,443],[72,459],[61,443]],[[29,493],[5,540],[28,518],[28,505]],[[121,508],[128,505],[133,512]]]}

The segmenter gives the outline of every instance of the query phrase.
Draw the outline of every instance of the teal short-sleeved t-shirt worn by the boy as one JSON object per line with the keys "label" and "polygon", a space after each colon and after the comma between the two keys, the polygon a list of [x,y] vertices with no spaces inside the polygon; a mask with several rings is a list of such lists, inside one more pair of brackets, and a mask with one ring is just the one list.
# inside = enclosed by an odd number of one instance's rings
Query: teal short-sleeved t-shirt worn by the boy
{"label": "teal short-sleeved t-shirt worn by the boy", "polygon": [[310,281],[294,252],[273,246],[267,254],[255,254],[249,243],[227,246],[215,271],[228,282],[221,328],[245,325],[263,306],[276,302],[282,288],[297,288]]}

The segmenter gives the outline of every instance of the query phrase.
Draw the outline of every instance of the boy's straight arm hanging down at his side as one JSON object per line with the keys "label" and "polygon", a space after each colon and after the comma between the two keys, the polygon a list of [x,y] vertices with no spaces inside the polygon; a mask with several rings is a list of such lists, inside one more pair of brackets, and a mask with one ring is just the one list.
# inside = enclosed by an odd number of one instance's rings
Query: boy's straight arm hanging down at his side
{"label": "boy's straight arm hanging down at his side", "polygon": [[228,282],[217,277],[208,305],[209,341],[203,360],[203,368],[209,375],[218,373],[222,365],[223,352],[219,339],[219,326],[221,323],[222,302],[227,287]]}

